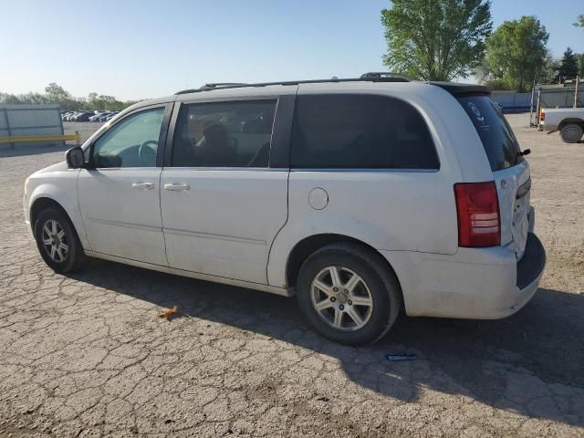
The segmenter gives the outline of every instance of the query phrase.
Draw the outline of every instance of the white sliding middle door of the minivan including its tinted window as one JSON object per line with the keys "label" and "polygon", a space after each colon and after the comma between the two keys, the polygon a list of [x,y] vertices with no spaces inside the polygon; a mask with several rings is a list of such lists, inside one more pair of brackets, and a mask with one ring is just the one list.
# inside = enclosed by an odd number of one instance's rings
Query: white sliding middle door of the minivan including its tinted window
{"label": "white sliding middle door of the minivan including its tinted window", "polygon": [[183,104],[161,179],[169,266],[266,283],[287,220],[285,168],[269,167],[276,99]]}

